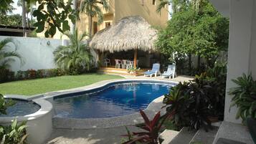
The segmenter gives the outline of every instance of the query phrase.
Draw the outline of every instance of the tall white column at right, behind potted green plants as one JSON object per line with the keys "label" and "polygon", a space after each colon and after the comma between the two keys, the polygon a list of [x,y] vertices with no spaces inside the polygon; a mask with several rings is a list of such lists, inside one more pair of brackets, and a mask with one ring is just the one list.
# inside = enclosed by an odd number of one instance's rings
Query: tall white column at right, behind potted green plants
{"label": "tall white column at right, behind potted green plants", "polygon": [[[254,0],[231,0],[229,16],[229,49],[227,64],[227,92],[235,87],[232,79],[243,73],[252,72],[256,80],[256,18]],[[231,97],[226,95],[224,120],[232,123],[241,123],[236,120],[237,108],[232,107]]]}

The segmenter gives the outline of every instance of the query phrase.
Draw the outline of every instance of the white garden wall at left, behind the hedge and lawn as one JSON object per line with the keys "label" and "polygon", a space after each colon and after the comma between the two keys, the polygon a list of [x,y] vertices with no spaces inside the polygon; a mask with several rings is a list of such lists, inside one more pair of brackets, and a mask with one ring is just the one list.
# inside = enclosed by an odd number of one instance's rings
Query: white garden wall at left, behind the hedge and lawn
{"label": "white garden wall at left, behind the hedge and lawn", "polygon": [[[0,41],[6,37],[0,36]],[[12,37],[17,45],[17,53],[24,58],[24,64],[21,65],[19,59],[11,62],[11,70],[27,69],[52,69],[55,66],[54,56],[52,52],[58,46],[64,44],[66,40],[61,39],[45,39],[45,38],[30,38],[30,37]],[[49,42],[49,45],[47,45]],[[11,47],[13,45],[10,44]],[[11,48],[10,50],[13,50]]]}

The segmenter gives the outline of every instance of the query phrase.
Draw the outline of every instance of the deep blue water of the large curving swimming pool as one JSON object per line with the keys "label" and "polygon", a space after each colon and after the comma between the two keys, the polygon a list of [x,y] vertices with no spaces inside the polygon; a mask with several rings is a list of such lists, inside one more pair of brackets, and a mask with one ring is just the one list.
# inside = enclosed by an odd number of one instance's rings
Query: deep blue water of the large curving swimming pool
{"label": "deep blue water of the large curving swimming pool", "polygon": [[95,93],[54,99],[55,116],[98,118],[128,115],[145,109],[150,102],[169,92],[170,84],[126,82],[110,85]]}

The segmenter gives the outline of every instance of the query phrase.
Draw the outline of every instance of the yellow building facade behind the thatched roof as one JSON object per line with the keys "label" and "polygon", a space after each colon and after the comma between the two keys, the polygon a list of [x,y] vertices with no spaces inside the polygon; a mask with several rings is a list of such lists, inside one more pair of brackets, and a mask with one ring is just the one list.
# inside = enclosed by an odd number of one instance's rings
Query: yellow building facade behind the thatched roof
{"label": "yellow building facade behind the thatched roof", "polygon": [[[92,34],[105,29],[116,21],[119,21],[125,16],[142,16],[152,27],[164,28],[167,26],[169,20],[169,5],[166,5],[161,10],[161,14],[156,12],[156,7],[159,4],[159,0],[108,0],[110,9],[108,11],[103,10],[103,23],[98,24],[98,18],[93,17],[93,29]],[[70,25],[72,23],[70,22]],[[77,29],[80,34],[88,32],[89,18],[85,13],[80,14],[80,20],[77,21]],[[38,37],[44,37],[44,33],[38,34]],[[57,32],[54,39],[67,39],[62,33]]]}

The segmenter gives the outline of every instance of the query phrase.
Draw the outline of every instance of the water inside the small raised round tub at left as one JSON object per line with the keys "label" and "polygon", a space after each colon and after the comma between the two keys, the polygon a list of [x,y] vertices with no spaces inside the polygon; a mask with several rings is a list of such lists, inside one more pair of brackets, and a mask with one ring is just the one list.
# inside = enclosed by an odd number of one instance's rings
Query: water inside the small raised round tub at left
{"label": "water inside the small raised round tub at left", "polygon": [[13,100],[15,105],[8,107],[6,112],[7,115],[0,114],[0,117],[16,117],[29,115],[34,112],[37,112],[40,109],[40,106],[32,101],[27,100]]}

